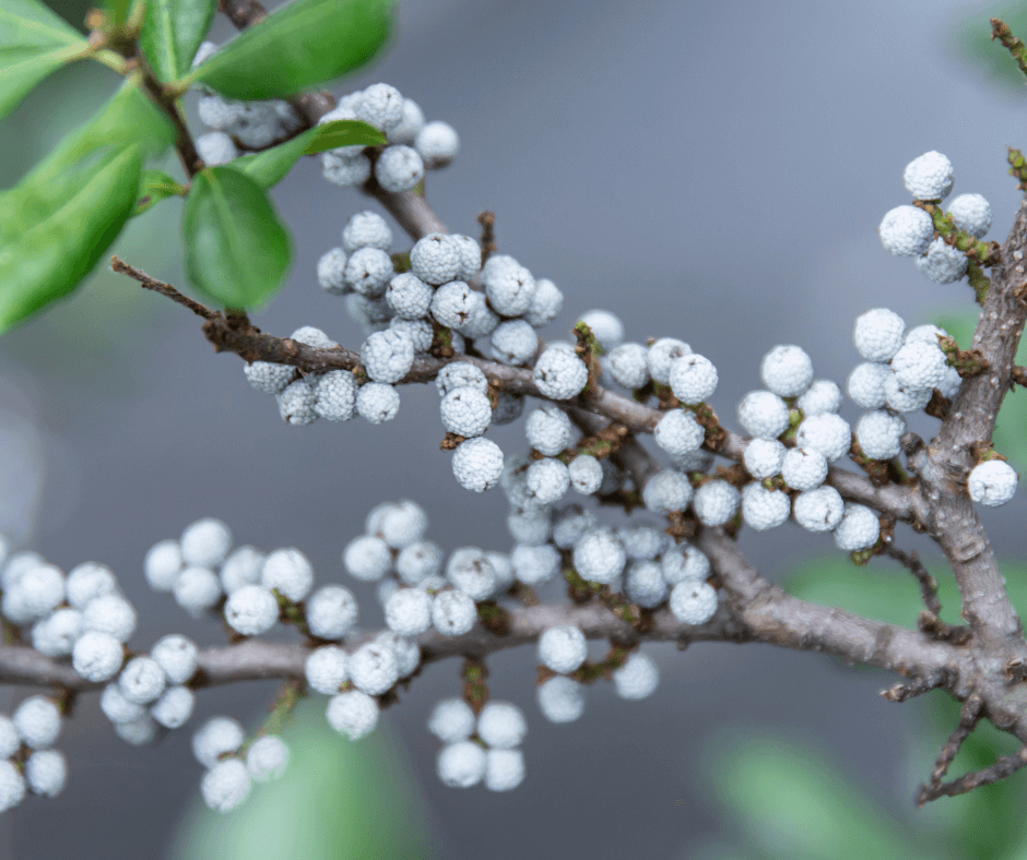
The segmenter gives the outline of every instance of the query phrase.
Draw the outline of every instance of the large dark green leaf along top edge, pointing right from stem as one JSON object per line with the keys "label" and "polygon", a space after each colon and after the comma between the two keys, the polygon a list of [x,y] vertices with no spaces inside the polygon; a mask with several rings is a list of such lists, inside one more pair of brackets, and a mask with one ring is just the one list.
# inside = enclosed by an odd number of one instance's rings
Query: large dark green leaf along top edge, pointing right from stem
{"label": "large dark green leaf along top edge, pointing right from stem", "polygon": [[391,0],[294,0],[219,49],[188,80],[229,98],[291,96],[370,60],[391,17]]}

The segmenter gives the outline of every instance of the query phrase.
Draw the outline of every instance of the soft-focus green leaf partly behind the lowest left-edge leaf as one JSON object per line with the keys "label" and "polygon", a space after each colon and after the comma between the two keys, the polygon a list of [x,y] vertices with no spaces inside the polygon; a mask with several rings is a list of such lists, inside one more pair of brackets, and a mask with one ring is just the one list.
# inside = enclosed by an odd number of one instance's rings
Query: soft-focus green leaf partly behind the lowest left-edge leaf
{"label": "soft-focus green leaf partly behind the lowest left-edge leaf", "polygon": [[0,244],[49,217],[79,188],[79,172],[111,152],[133,147],[152,158],[174,140],[167,118],[133,82],[126,82],[93,119],[67,135],[14,188],[0,193]]}

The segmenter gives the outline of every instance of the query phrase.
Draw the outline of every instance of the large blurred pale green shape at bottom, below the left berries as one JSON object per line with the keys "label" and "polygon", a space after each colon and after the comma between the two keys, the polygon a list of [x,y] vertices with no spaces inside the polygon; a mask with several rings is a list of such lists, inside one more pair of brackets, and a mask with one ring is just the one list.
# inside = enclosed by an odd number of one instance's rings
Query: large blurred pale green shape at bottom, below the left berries
{"label": "large blurred pale green shape at bottom, below the left berries", "polygon": [[[430,829],[402,743],[379,724],[358,741],[324,719],[324,700],[300,703],[282,732],[285,775],[255,783],[241,807],[224,815],[199,798],[169,858],[253,860],[418,860],[436,857]],[[436,846],[437,850],[437,846]]]}

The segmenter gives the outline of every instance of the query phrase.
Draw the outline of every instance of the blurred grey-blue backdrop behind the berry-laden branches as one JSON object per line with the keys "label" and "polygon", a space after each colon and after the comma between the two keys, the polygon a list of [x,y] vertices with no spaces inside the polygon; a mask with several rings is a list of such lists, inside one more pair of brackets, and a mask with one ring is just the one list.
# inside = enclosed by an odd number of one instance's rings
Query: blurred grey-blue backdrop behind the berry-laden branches
{"label": "blurred grey-blue backdrop behind the berry-laden branches", "polygon": [[[50,5],[81,25],[90,3]],[[417,0],[400,3],[378,61],[334,91],[385,81],[457,129],[461,152],[428,176],[428,199],[450,229],[471,235],[480,212],[495,212],[500,251],[563,289],[564,311],[543,336],[567,336],[581,312],[601,307],[621,316],[629,339],[681,337],[719,368],[713,406],[733,423],[734,404],[759,385],[758,361],[776,344],[802,345],[817,377],[843,383],[859,361],[853,319],[867,308],[889,307],[910,325],[944,318],[953,334],[972,326],[966,283],[928,282],[884,251],[876,227],[908,202],[905,165],[936,148],[955,166],[954,193],[991,202],[988,238],[1008,231],[1020,194],[1006,146],[1027,145],[1027,93],[988,43],[996,13],[1027,35],[1023,15],[966,0]],[[232,33],[220,19],[211,38]],[[84,64],[47,80],[0,124],[2,186],[116,84]],[[280,335],[316,325],[358,346],[343,301],[317,286],[314,268],[352,214],[380,210],[323,182],[316,159],[273,196],[296,262],[257,324]],[[180,201],[162,202],[115,250],[185,286],[179,215]],[[393,250],[406,249],[394,234]],[[1017,397],[1000,450],[1023,470],[1014,445],[1025,437],[1027,394]],[[220,625],[191,621],[142,576],[149,547],[201,516],[222,518],[239,544],[300,548],[322,583],[343,581],[343,546],[385,500],[424,505],[428,537],[447,549],[510,548],[501,494],[456,483],[438,450],[437,408],[434,390],[417,386],[402,391],[399,416],[380,427],[290,427],[246,383],[236,356],[212,351],[196,318],[97,272],[0,339],[0,530],[66,570],[109,564],[140,613],[133,647],[169,632],[214,644]],[[934,422],[912,423],[930,432]],[[526,447],[522,423],[489,432],[508,452]],[[1003,557],[1024,557],[1024,513],[1023,494],[982,513]],[[802,568],[796,589],[840,605],[877,595],[867,611],[901,607],[895,620],[914,624],[916,584],[889,563],[838,564],[829,539],[793,525],[743,531],[742,545],[770,578]],[[930,558],[931,546],[905,527],[897,545]],[[828,575],[847,594],[819,594]],[[355,590],[365,597],[362,624],[380,624],[370,592]],[[946,609],[955,620],[952,598]],[[424,722],[437,700],[460,692],[451,661],[426,669],[356,744],[327,727],[322,697],[309,700],[287,736],[294,766],[226,817],[201,809],[189,729],[129,748],[96,696],[84,696],[59,742],[68,787],[4,816],[0,858],[842,857],[847,844],[871,837],[906,857],[1019,850],[1023,793],[1002,795],[1005,807],[989,795],[988,803],[912,809],[954,720],[934,696],[888,704],[877,693],[892,677],[812,654],[719,644],[647,652],[662,673],[649,700],[625,702],[597,684],[585,716],[563,726],[535,705],[531,649],[489,659],[492,695],[529,720],[527,778],[510,793],[448,789],[435,776],[438,742]],[[2,693],[0,708],[10,713],[23,694]],[[256,726],[274,694],[264,683],[204,692],[190,727],[220,713]],[[995,740],[978,753],[1000,749]],[[970,763],[964,756],[954,772]],[[1004,819],[1003,809],[1020,811]],[[1001,821],[1008,833],[996,829]],[[999,841],[967,847],[949,839],[953,827]]]}

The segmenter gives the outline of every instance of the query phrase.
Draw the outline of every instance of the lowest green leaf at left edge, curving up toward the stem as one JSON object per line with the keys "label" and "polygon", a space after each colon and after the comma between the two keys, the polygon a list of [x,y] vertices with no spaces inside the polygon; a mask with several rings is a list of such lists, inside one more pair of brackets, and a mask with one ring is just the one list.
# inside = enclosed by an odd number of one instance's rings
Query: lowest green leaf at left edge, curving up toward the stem
{"label": "lowest green leaf at left edge, curving up toward the stem", "polygon": [[70,292],[115,240],[135,203],[142,153],[126,146],[74,172],[45,218],[0,244],[0,331]]}

